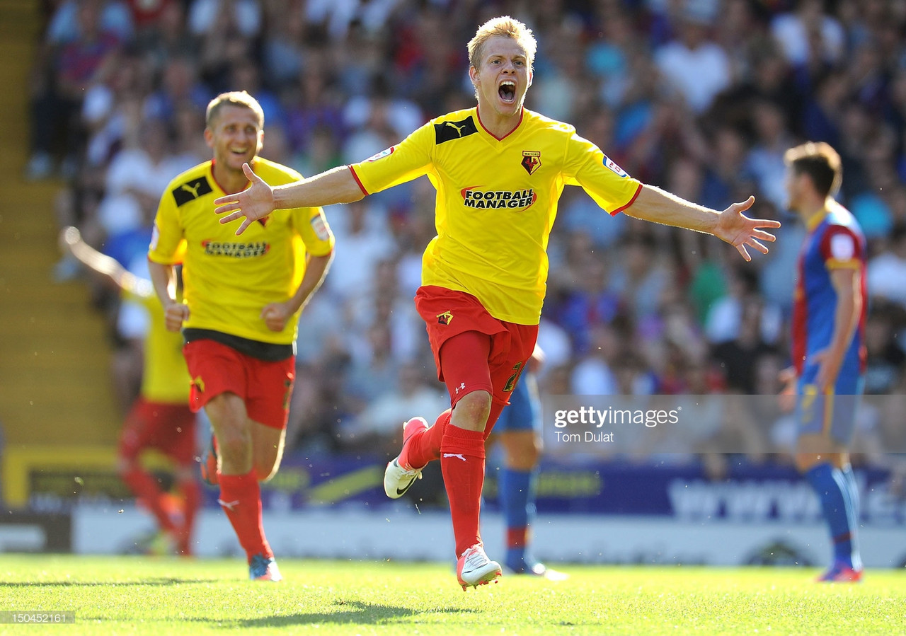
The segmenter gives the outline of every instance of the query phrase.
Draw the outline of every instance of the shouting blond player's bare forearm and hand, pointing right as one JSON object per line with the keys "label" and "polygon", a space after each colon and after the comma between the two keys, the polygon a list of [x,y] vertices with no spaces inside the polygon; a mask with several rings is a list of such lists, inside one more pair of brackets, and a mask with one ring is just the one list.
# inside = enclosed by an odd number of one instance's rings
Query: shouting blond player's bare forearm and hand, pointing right
{"label": "shouting blond player's bare forearm and hand, pointing right", "polygon": [[752,204],[754,197],[742,203],[734,203],[723,212],[708,209],[684,198],[665,192],[653,186],[642,186],[639,196],[624,214],[644,221],[653,221],[665,226],[685,227],[717,236],[720,240],[735,246],[747,261],[752,260],[747,246],[767,254],[767,247],[761,241],[771,242],[776,236],[760,227],[779,227],[778,221],[766,218],[749,218],[743,214]]}

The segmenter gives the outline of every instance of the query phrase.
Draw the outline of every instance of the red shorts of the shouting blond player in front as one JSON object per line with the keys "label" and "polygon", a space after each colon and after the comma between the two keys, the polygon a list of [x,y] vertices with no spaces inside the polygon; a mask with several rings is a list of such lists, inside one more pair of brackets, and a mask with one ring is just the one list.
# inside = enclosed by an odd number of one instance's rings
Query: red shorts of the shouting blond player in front
{"label": "red shorts of the shouting blond player in front", "polygon": [[415,308],[428,329],[450,405],[473,390],[487,390],[496,403],[506,404],[535,349],[538,325],[497,320],[472,294],[435,285],[419,287]]}

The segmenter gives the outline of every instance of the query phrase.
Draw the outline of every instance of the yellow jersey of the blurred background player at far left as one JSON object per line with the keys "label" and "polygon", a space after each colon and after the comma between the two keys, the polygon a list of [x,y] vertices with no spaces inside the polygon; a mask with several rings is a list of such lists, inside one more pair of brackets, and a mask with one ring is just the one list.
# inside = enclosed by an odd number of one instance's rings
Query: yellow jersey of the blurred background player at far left
{"label": "yellow jersey of the blurred background player at far left", "polygon": [[188,404],[189,377],[182,356],[182,335],[167,331],[164,308],[157,294],[123,292],[126,300],[141,304],[148,312],[145,334],[145,359],[141,376],[141,395],[149,402]]}

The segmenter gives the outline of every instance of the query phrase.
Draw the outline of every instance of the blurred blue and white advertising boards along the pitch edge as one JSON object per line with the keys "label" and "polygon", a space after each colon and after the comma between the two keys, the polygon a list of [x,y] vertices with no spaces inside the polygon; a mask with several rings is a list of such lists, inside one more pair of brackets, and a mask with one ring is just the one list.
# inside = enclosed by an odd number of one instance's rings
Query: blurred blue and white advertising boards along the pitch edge
{"label": "blurred blue and white advertising boards along the pitch edge", "polygon": [[[411,499],[390,501],[381,491],[382,468],[367,458],[288,459],[263,490],[265,527],[275,552],[449,560],[448,511],[430,496],[438,476],[426,476],[425,484],[419,482],[424,489]],[[505,536],[494,497],[495,473],[489,467],[482,528],[492,554],[503,550]],[[863,560],[869,567],[902,567],[906,501],[889,491],[882,471],[862,470],[857,476]],[[39,477],[33,486],[44,490],[33,493],[32,516],[0,524],[0,550],[152,551],[153,519],[128,498],[92,491],[92,480],[112,487],[115,478],[80,477],[79,496],[65,499],[62,485],[74,483],[74,477],[47,471]],[[740,463],[727,478],[710,480],[698,465],[545,461],[539,491],[535,552],[552,563],[820,565],[830,551],[818,503],[789,467]],[[217,506],[217,490],[206,492],[197,554],[237,555],[235,535]],[[42,515],[53,524],[41,522]]]}

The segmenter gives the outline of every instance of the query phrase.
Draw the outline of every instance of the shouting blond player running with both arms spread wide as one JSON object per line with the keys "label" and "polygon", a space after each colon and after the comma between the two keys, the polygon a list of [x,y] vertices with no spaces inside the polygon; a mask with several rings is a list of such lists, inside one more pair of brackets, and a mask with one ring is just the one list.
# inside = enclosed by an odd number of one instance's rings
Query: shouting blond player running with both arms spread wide
{"label": "shouting blond player running with both arms spread wide", "polygon": [[766,253],[776,221],[742,214],[754,201],[717,212],[630,178],[573,126],[523,106],[532,83],[535,37],[509,16],[481,25],[468,43],[477,107],[429,121],[400,145],[361,163],[272,188],[255,179],[218,198],[236,234],[285,207],[356,201],[428,175],[437,188],[438,236],[425,250],[415,302],[453,407],[433,427],[413,418],[384,489],[401,496],[431,459],[439,459],[456,537],[458,582],[496,581],[478,533],[485,440],[535,347],[547,278],[547,240],[566,185],[581,186],[610,214],[706,232]]}

